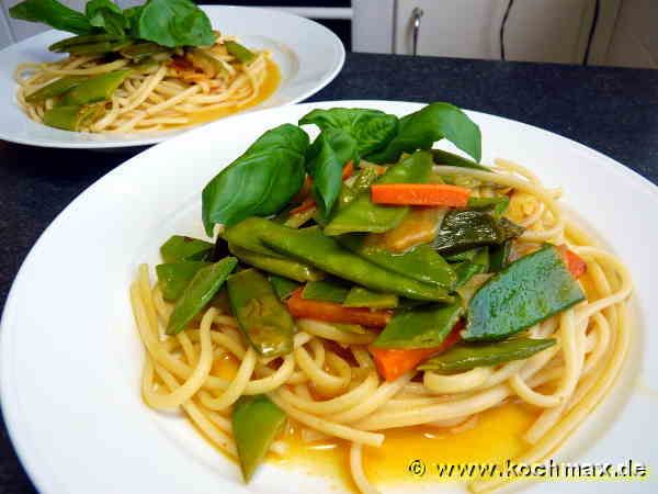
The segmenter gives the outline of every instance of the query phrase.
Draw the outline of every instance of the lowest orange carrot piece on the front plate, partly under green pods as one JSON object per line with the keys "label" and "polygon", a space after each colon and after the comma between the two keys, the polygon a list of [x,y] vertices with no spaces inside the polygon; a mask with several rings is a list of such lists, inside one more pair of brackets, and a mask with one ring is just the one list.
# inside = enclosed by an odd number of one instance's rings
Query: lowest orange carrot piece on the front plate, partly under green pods
{"label": "lowest orange carrot piece on the front plate, partly under green pods", "polygon": [[416,369],[419,363],[456,344],[462,338],[460,333],[463,328],[464,323],[460,321],[438,347],[411,349],[370,347],[370,352],[375,359],[379,375],[386,381],[395,381],[405,372]]}

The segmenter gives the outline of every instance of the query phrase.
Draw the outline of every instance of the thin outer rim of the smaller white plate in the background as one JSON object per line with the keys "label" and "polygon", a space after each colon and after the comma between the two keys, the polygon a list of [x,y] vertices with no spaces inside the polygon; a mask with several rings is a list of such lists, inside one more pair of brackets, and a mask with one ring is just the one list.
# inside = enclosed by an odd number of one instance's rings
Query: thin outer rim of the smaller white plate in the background
{"label": "thin outer rim of the smaller white plate in the background", "polygon": [[[322,79],[320,79],[320,81],[313,88],[309,88],[308,90],[306,90],[305,92],[299,93],[298,96],[296,96],[295,98],[293,98],[292,100],[276,105],[276,106],[272,106],[272,108],[281,108],[281,106],[288,106],[291,104],[297,104],[300,103],[303,101],[305,101],[306,99],[310,98],[311,96],[318,93],[319,91],[321,91],[322,89],[325,89],[327,86],[329,86],[337,77],[338,75],[341,72],[344,63],[345,63],[345,47],[342,43],[342,41],[338,37],[338,35],[329,30],[328,27],[324,26],[322,24],[320,24],[317,21],[314,21],[313,19],[308,19],[308,18],[304,18],[302,15],[297,15],[295,13],[288,12],[288,11],[282,11],[282,10],[277,10],[277,9],[266,9],[266,8],[262,8],[262,7],[250,7],[250,5],[222,5],[222,4],[200,4],[198,7],[201,7],[204,10],[251,10],[251,11],[259,11],[260,13],[272,13],[274,12],[276,15],[281,15],[283,18],[288,18],[288,19],[297,19],[303,23],[306,23],[308,25],[314,25],[314,29],[319,29],[320,31],[322,31],[325,34],[329,35],[329,37],[331,38],[331,44],[338,48],[338,59],[336,65],[332,67],[332,69],[330,71],[328,71]],[[18,43],[13,43],[2,49],[0,49],[0,55],[2,55],[3,53],[9,53],[12,52],[13,49],[15,49],[16,47],[25,47],[25,46],[30,46],[32,43],[35,42],[35,38],[39,37],[39,36],[47,36],[47,35],[52,35],[53,33],[57,33],[57,32],[61,32],[58,30],[46,30],[44,32],[34,34],[30,37],[26,37],[25,40],[21,40]],[[44,49],[46,49],[44,47]],[[13,70],[11,71],[11,74],[13,72]],[[13,79],[13,77],[12,77]],[[15,88],[14,88],[15,90]],[[15,100],[15,96],[14,96],[14,100]],[[15,103],[15,101],[12,101]],[[227,120],[227,119],[234,119],[236,116],[240,116],[242,114],[246,113],[253,113],[254,111],[263,111],[263,110],[271,110],[272,108],[265,108],[265,109],[247,109],[247,112],[237,112],[227,116],[223,116],[222,119],[218,120]],[[251,110],[251,111],[249,111]],[[27,119],[26,115],[24,115],[25,119]],[[8,143],[14,143],[14,144],[20,144],[20,145],[24,145],[24,146],[34,146],[34,147],[43,147],[43,148],[55,148],[55,149],[125,149],[125,148],[139,148],[139,147],[145,147],[145,146],[151,146],[155,144],[159,144],[162,143],[164,141],[171,139],[178,135],[181,135],[183,133],[193,131],[195,128],[200,128],[203,127],[205,125],[212,124],[213,122],[217,122],[217,120],[213,120],[209,122],[204,122],[197,125],[193,125],[190,127],[182,127],[180,130],[172,130],[169,132],[163,132],[161,135],[151,135],[148,137],[145,137],[143,139],[135,139],[135,141],[124,141],[124,142],[103,142],[103,141],[80,141],[80,142],[73,142],[73,141],[64,141],[64,142],[53,142],[53,141],[43,141],[43,139],[38,139],[38,141],[34,141],[34,139],[30,139],[30,138],[23,138],[23,137],[16,137],[13,136],[11,134],[8,134],[7,132],[3,132],[2,128],[0,127],[0,139],[1,141],[7,141]]]}

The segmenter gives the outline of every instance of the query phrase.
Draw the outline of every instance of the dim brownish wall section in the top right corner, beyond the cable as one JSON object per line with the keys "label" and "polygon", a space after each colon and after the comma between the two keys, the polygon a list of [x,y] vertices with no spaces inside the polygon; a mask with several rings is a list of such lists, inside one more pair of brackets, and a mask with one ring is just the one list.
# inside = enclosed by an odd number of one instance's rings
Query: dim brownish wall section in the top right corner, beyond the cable
{"label": "dim brownish wall section in the top right corner, beyond the cable", "polygon": [[623,1],[603,63],[658,69],[658,1]]}

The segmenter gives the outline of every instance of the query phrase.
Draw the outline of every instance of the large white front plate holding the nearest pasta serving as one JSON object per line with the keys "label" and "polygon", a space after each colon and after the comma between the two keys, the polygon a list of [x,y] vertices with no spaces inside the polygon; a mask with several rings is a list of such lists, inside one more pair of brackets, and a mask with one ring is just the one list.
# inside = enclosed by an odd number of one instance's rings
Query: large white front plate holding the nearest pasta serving
{"label": "large white front plate holding the nearest pasta serving", "polygon": [[[201,190],[223,166],[265,130],[295,123],[315,108],[337,105],[400,115],[419,108],[339,101],[215,122],[107,173],[43,234],[14,281],[0,340],[4,417],[41,492],[336,492],[327,479],[271,464],[246,487],[236,465],[183,418],[147,408],[139,395],[143,350],[127,290],[137,266],[156,261],[158,246],[169,235],[202,235]],[[633,459],[656,468],[658,234],[650,222],[658,211],[657,188],[564,137],[497,116],[469,114],[483,131],[485,162],[508,157],[530,166],[548,186],[563,186],[566,202],[613,246],[635,279],[633,345],[623,375],[557,459]],[[228,133],[230,139],[217,138]],[[624,490],[657,492],[653,482],[625,483]],[[552,492],[554,485],[535,484],[531,490]],[[413,483],[397,492],[422,487]],[[432,486],[424,489],[429,492]],[[559,489],[613,493],[620,484],[586,482]]]}

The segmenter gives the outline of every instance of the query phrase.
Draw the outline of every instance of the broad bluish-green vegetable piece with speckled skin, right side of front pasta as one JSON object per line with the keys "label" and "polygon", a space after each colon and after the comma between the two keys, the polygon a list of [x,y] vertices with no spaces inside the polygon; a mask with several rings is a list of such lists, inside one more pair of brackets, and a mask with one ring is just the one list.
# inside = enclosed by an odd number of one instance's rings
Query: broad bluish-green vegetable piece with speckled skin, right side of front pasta
{"label": "broad bluish-green vegetable piece with speckled skin, right side of front pasta", "polygon": [[467,341],[508,338],[585,300],[555,246],[546,245],[491,277],[468,304]]}

